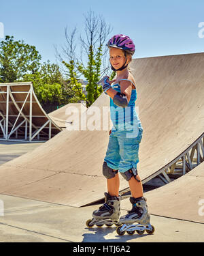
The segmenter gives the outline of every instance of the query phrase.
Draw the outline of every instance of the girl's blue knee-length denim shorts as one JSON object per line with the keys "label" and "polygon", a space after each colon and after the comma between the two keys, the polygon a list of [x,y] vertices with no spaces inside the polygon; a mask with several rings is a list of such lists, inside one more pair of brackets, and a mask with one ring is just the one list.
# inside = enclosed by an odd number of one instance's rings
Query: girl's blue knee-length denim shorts
{"label": "girl's blue knee-length denim shorts", "polygon": [[124,173],[133,167],[137,169],[142,133],[143,128],[141,126],[137,126],[135,134],[130,130],[113,128],[109,135],[109,143],[104,158],[107,166],[118,170],[120,173]]}

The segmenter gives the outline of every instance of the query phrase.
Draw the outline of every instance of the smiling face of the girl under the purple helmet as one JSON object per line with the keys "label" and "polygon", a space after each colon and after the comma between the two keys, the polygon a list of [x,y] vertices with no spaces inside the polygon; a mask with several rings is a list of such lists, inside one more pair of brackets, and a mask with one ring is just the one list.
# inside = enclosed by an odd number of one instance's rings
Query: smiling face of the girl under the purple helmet
{"label": "smiling face of the girl under the purple helmet", "polygon": [[[128,59],[129,58],[127,57],[127,61]],[[125,63],[124,52],[118,48],[109,48],[109,62],[116,70],[118,70],[118,68],[121,68]]]}

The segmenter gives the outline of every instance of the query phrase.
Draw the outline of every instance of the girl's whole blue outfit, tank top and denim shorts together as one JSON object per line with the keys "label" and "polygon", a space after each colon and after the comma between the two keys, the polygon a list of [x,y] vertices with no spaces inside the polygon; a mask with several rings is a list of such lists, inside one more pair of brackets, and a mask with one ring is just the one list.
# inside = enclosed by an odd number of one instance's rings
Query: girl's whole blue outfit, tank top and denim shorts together
{"label": "girl's whole blue outfit, tank top and denim shorts together", "polygon": [[[112,88],[120,92],[119,83],[112,85]],[[108,167],[118,170],[120,173],[124,173],[133,167],[137,169],[137,163],[139,162],[139,143],[141,142],[143,128],[135,111],[136,99],[136,87],[132,89],[131,100],[126,108],[116,106],[110,98],[110,116],[113,127],[109,135],[104,161],[107,162]]]}

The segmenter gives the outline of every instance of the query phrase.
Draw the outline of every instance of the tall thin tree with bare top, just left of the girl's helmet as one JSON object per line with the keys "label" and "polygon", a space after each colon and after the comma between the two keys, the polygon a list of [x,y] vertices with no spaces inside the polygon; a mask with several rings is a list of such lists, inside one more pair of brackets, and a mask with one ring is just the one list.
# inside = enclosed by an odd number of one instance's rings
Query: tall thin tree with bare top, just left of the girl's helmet
{"label": "tall thin tree with bare top, just left of the girl's helmet", "polygon": [[78,61],[78,70],[88,81],[86,91],[88,92],[87,100],[89,106],[97,100],[103,91],[97,83],[104,72],[104,70],[101,70],[102,59],[105,56],[105,53],[103,53],[103,44],[111,31],[111,27],[107,26],[101,16],[95,15],[91,10],[87,12],[84,18],[86,37],[83,39],[81,36],[80,41],[82,52],[84,50],[84,53],[87,54],[88,62],[87,65],[84,65],[82,59]]}

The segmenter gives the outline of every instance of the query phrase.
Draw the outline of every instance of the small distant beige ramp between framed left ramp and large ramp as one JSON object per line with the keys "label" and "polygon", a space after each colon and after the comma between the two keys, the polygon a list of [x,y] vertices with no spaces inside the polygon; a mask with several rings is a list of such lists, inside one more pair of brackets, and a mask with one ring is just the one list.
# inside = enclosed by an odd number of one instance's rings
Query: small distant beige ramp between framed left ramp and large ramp
{"label": "small distant beige ramp between framed left ramp and large ramp", "polygon": [[[56,109],[55,111],[52,111],[52,113],[49,113],[48,116],[60,128],[65,129],[69,125],[69,122],[67,122],[67,119],[69,119],[69,116],[70,116],[67,110],[72,107],[78,109],[79,115],[81,117],[82,103],[69,103],[65,106],[62,106],[59,109]],[[83,111],[84,109],[87,109],[87,108],[86,106],[83,105]]]}

